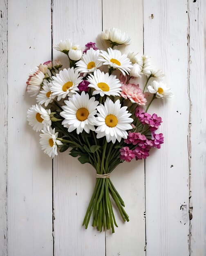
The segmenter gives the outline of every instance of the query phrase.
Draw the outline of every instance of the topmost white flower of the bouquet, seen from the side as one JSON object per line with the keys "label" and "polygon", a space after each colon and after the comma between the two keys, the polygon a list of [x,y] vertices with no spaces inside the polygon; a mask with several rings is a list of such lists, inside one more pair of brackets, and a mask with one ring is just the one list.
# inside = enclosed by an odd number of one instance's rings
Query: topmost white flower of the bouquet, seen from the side
{"label": "topmost white flower of the bouquet, seen from the side", "polygon": [[129,45],[131,43],[131,37],[121,29],[115,27],[106,29],[105,32],[101,32],[101,38],[110,41],[114,45]]}

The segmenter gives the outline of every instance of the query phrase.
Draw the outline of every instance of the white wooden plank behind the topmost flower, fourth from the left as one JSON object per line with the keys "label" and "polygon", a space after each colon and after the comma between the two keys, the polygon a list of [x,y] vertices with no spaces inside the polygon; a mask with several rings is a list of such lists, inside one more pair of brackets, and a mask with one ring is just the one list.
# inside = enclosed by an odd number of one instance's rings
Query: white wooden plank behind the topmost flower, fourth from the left
{"label": "white wooden plank behind the topmost flower, fourth from the left", "polygon": [[[120,28],[132,38],[132,44],[119,49],[143,54],[143,3],[141,0],[103,0],[103,30]],[[111,180],[125,202],[130,221],[123,223],[114,208],[118,228],[106,232],[106,255],[145,255],[145,175],[144,162],[133,160],[119,165]]]}

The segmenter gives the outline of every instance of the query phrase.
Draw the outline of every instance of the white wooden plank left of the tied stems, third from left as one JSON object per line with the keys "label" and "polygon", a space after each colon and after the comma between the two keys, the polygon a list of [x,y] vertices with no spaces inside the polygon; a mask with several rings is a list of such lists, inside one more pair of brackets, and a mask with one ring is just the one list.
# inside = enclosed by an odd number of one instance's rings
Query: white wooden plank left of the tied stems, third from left
{"label": "white wooden plank left of the tied stems, third from left", "polygon": [[[95,42],[102,29],[101,0],[54,0],[53,42],[70,38],[84,46]],[[53,51],[54,59],[60,58],[64,67],[68,60]],[[65,58],[66,57],[66,58]],[[89,164],[80,164],[68,152],[54,159],[54,254],[55,256],[105,255],[105,234],[96,231],[91,222],[82,227],[83,219],[92,196],[96,174]]]}

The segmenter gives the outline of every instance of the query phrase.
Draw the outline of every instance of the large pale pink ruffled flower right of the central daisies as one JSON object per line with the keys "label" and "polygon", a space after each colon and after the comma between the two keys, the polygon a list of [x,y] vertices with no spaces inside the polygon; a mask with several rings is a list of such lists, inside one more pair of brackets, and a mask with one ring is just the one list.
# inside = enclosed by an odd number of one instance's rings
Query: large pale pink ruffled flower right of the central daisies
{"label": "large pale pink ruffled flower right of the central daisies", "polygon": [[143,91],[139,88],[139,85],[134,83],[128,83],[128,85],[121,86],[121,97],[124,99],[130,99],[132,103],[137,103],[144,106],[147,100],[144,97]]}

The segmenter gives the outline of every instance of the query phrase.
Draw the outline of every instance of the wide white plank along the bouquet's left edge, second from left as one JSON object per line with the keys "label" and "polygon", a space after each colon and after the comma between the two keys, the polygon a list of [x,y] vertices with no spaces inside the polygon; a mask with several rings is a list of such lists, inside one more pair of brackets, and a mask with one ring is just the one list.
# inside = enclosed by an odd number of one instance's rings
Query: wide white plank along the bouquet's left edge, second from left
{"label": "wide white plank along the bouquet's left edge, second from left", "polygon": [[27,123],[29,70],[51,58],[51,2],[8,3],[8,255],[53,254],[52,162]]}

